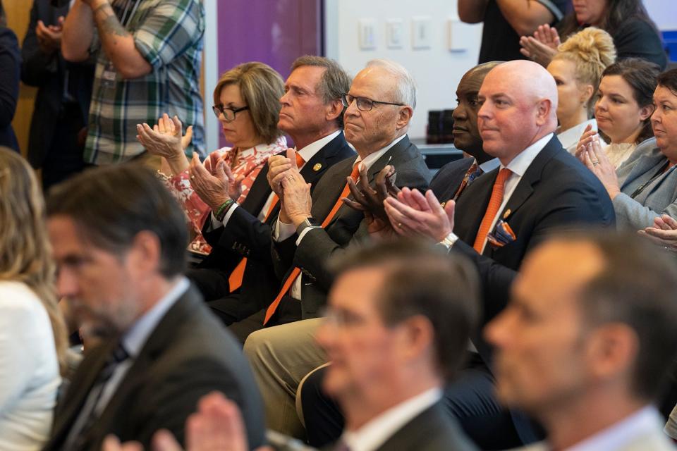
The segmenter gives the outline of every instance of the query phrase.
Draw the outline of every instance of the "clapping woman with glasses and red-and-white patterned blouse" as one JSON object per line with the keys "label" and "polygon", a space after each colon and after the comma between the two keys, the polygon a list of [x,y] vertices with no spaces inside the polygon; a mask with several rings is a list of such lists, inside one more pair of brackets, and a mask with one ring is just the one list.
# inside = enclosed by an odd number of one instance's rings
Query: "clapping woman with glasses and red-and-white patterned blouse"
{"label": "clapping woman with glasses and red-and-white patterned blouse", "polygon": [[[214,88],[212,110],[221,122],[224,137],[233,147],[217,149],[205,159],[208,171],[214,172],[220,161],[228,177],[228,194],[240,204],[269,156],[287,148],[277,128],[280,97],[284,82],[279,73],[264,63],[243,63],[226,71]],[[167,187],[183,205],[197,237],[190,249],[209,253],[209,245],[200,231],[212,211],[190,184],[189,161],[184,149],[190,144],[191,128],[182,136],[178,118],[164,116],[157,125],[138,125],[138,140],[151,154],[163,157],[161,175]],[[216,213],[216,212],[215,212]]]}

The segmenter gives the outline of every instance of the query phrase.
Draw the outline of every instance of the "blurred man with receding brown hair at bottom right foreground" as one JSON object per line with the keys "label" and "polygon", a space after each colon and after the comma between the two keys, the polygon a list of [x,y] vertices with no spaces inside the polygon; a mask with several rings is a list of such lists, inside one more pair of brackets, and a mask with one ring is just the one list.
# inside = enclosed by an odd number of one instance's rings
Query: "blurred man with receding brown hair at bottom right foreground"
{"label": "blurred man with receding brown hair at bottom right foreground", "polygon": [[525,448],[663,451],[652,402],[677,354],[677,266],[636,235],[559,235],[525,260],[484,330],[501,402],[539,420]]}

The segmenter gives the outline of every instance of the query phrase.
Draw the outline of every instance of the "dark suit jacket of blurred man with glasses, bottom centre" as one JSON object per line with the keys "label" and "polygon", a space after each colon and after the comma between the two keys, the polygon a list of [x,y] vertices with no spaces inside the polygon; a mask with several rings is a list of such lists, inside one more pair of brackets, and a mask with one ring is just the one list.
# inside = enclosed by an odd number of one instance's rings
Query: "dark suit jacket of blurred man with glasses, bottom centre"
{"label": "dark suit jacket of blurred man with glasses, bottom centre", "polygon": [[[325,450],[334,450],[336,445]],[[391,435],[377,451],[475,451],[440,402],[415,416]]]}

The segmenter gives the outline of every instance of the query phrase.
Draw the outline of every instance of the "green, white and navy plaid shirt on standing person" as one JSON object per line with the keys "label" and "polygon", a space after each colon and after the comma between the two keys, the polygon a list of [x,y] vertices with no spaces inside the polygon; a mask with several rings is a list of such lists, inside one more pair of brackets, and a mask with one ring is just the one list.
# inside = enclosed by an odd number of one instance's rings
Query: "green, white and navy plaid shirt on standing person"
{"label": "green, white and navy plaid shirt on standing person", "polygon": [[[111,0],[118,18],[129,0]],[[138,1],[135,11],[133,4]],[[162,113],[178,116],[193,125],[193,142],[187,149],[205,155],[205,125],[200,95],[202,38],[205,8],[202,0],[130,0],[134,11],[126,30],[134,37],[136,49],[152,66],[148,75],[123,80],[118,74],[112,83],[103,80],[110,60],[97,42],[99,51],[89,114],[85,161],[110,164],[127,161],[145,152],[136,140],[136,125],[154,124]],[[111,66],[112,67],[112,66]]]}

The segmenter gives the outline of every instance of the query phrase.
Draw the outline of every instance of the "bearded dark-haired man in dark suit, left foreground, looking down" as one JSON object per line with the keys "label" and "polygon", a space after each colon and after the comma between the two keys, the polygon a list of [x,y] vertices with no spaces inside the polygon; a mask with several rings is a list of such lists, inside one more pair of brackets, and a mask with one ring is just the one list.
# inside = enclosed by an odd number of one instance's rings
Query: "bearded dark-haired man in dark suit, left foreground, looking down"
{"label": "bearded dark-haired man in dark suit, left foreground, looking down", "polygon": [[56,407],[44,450],[99,450],[109,433],[149,445],[166,428],[183,442],[200,397],[219,390],[263,441],[260,396],[240,347],[181,275],[181,207],[147,168],[85,171],[51,190],[48,230],[57,289],[88,349]]}

